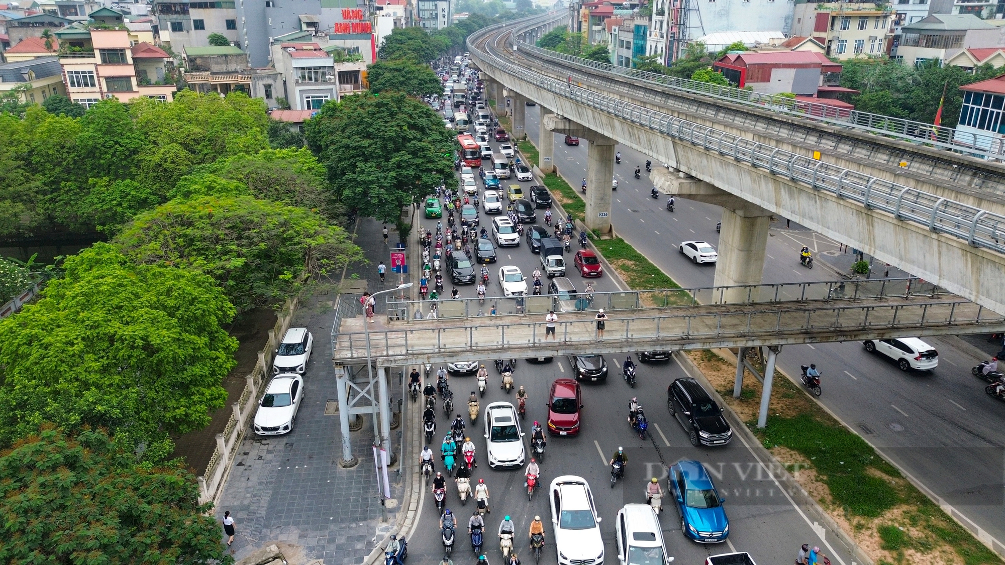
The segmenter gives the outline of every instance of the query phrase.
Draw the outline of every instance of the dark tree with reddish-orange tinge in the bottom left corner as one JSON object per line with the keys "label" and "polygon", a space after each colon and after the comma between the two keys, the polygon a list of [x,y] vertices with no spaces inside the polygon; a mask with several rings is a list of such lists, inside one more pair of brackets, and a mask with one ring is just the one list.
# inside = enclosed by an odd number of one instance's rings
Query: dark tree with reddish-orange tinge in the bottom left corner
{"label": "dark tree with reddish-orange tinge in the bottom left corner", "polygon": [[36,428],[0,453],[0,500],[4,563],[233,563],[192,474],[104,430]]}

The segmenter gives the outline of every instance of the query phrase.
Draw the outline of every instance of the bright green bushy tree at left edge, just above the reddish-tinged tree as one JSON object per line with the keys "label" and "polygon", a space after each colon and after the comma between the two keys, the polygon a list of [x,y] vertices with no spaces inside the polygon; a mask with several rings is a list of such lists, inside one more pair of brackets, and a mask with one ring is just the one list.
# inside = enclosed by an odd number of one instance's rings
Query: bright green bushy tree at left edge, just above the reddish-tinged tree
{"label": "bright green bushy tree at left edge, just above the reddish-tinged tree", "polygon": [[108,243],[67,257],[43,299],[0,321],[0,442],[45,421],[158,445],[209,424],[237,341],[234,308],[204,274],[136,264]]}

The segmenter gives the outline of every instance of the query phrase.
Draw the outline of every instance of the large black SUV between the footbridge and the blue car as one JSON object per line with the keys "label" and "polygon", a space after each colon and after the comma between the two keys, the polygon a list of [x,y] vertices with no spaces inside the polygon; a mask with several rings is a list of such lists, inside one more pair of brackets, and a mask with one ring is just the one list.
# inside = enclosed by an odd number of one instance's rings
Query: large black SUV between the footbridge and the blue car
{"label": "large black SUV between the footbridge and the blue car", "polygon": [[725,445],[733,438],[733,430],[719,404],[690,377],[681,377],[666,387],[666,408],[683,426],[695,447]]}

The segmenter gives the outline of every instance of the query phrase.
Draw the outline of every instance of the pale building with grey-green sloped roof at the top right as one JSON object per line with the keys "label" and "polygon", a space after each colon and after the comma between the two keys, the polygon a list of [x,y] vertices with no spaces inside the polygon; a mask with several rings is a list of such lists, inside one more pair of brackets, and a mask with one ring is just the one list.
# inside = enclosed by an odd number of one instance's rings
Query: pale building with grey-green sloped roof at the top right
{"label": "pale building with grey-green sloped roof at the top right", "polygon": [[967,48],[1002,46],[1001,30],[974,14],[935,14],[901,28],[896,58],[920,65],[945,61]]}

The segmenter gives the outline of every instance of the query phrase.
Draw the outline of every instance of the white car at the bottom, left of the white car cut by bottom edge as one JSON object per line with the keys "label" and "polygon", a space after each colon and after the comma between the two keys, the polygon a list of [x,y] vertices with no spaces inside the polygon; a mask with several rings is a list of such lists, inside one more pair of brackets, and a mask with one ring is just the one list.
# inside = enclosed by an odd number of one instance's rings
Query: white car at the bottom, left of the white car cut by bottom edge
{"label": "white car at the bottom, left of the white car cut by bottom edge", "polygon": [[559,565],[601,565],[604,540],[600,537],[600,517],[586,480],[573,475],[556,477],[549,491]]}

